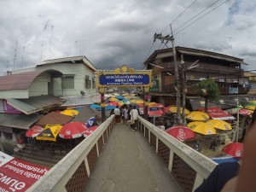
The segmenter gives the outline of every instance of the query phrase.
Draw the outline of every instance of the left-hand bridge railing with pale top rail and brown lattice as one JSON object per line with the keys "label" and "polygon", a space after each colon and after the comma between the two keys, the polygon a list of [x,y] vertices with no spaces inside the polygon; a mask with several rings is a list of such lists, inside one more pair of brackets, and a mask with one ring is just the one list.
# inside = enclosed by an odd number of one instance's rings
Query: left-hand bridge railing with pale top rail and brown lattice
{"label": "left-hand bridge railing with pale top rail and brown lattice", "polygon": [[96,159],[113,129],[114,115],[109,117],[83,142],[68,153],[49,172],[26,191],[82,191]]}

